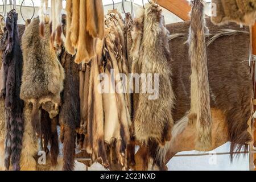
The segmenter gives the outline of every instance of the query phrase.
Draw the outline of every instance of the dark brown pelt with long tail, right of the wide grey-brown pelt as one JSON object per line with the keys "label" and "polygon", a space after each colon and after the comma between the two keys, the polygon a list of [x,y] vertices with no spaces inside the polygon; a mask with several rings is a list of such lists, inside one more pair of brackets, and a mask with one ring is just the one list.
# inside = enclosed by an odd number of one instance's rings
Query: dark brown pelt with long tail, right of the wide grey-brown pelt
{"label": "dark brown pelt with long tail, right of the wide grey-brown pelt", "polygon": [[63,140],[63,170],[73,170],[75,167],[76,129],[80,125],[79,98],[79,65],[63,49],[60,55],[61,64],[65,70],[63,104],[60,107],[59,123]]}

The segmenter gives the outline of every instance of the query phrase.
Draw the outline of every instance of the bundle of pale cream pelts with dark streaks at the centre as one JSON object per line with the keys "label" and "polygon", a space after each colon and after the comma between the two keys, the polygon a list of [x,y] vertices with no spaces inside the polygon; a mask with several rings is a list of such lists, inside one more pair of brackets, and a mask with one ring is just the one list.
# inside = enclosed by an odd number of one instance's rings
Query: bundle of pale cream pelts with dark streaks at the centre
{"label": "bundle of pale cream pelts with dark streaks at the centre", "polygon": [[[110,150],[115,147],[117,160],[123,169],[127,169],[127,144],[130,141],[130,95],[128,81],[119,73],[128,77],[129,68],[125,51],[125,37],[123,35],[123,23],[117,10],[109,11],[105,20],[105,74],[107,75],[104,86],[104,113],[105,113],[105,142]],[[104,78],[105,79],[105,78]],[[114,80],[113,80],[114,79]],[[127,82],[126,82],[127,81]],[[120,84],[121,83],[121,84]],[[104,87],[102,85],[102,87]],[[113,113],[116,110],[116,113]]]}

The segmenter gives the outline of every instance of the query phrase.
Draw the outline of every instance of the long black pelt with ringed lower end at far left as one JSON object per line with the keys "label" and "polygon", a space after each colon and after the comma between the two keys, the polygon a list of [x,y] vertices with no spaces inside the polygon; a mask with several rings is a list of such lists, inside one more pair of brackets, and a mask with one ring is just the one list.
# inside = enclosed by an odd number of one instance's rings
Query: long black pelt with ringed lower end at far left
{"label": "long black pelt with ringed lower end at far left", "polygon": [[3,69],[6,78],[5,92],[5,167],[7,170],[20,169],[20,152],[23,137],[23,101],[20,100],[22,75],[22,52],[19,44],[18,14],[10,11],[6,19],[7,46],[3,55]]}

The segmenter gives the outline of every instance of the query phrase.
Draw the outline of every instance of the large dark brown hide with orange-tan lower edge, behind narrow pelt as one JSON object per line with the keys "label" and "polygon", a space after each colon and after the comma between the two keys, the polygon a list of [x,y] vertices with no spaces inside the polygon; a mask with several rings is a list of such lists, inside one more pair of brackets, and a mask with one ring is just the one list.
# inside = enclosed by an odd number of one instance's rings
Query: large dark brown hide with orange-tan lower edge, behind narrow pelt
{"label": "large dark brown hide with orange-tan lower edge, behind narrow pelt", "polygon": [[[229,23],[227,26],[215,26],[207,18],[209,34],[216,35],[220,30],[237,30],[237,34],[221,36],[207,47],[210,107],[212,110],[212,146],[213,150],[226,142],[231,142],[230,155],[233,152],[248,150],[247,145],[251,141],[248,132],[248,122],[252,113],[253,81],[250,74],[249,60],[250,36],[249,28]],[[167,25],[172,34],[187,34],[191,22],[173,23]],[[242,31],[242,32],[241,32]],[[245,34],[244,32],[247,32]],[[195,150],[195,125],[183,122],[184,115],[190,108],[191,92],[191,61],[188,57],[188,47],[184,42],[187,37],[170,41],[171,65],[173,70],[172,80],[177,104],[173,111],[175,128],[181,129],[176,138],[168,142],[159,152],[164,164],[180,151]],[[207,38],[207,42],[209,38]],[[217,56],[216,56],[217,55]],[[225,60],[225,64],[223,61]],[[221,65],[221,66],[220,66]],[[179,70],[179,72],[177,72]],[[223,80],[220,82],[220,80]],[[184,123],[184,124],[182,124]],[[177,127],[177,126],[181,127]],[[184,126],[185,125],[185,126]],[[188,125],[188,127],[187,127]],[[172,131],[174,133],[174,130]],[[177,133],[177,132],[175,132]],[[182,144],[185,143],[185,144]],[[189,143],[189,145],[188,145]],[[151,147],[151,150],[154,148]],[[156,158],[153,156],[153,158]]]}

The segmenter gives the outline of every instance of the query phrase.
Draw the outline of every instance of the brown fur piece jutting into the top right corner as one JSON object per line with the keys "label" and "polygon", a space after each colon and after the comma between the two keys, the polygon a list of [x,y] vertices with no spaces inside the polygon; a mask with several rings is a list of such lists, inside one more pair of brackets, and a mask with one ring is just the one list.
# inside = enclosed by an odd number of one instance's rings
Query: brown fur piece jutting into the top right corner
{"label": "brown fur piece jutting into the top right corner", "polygon": [[238,24],[253,25],[256,19],[255,0],[213,0],[216,15],[212,16],[212,22],[225,24],[236,22]]}

